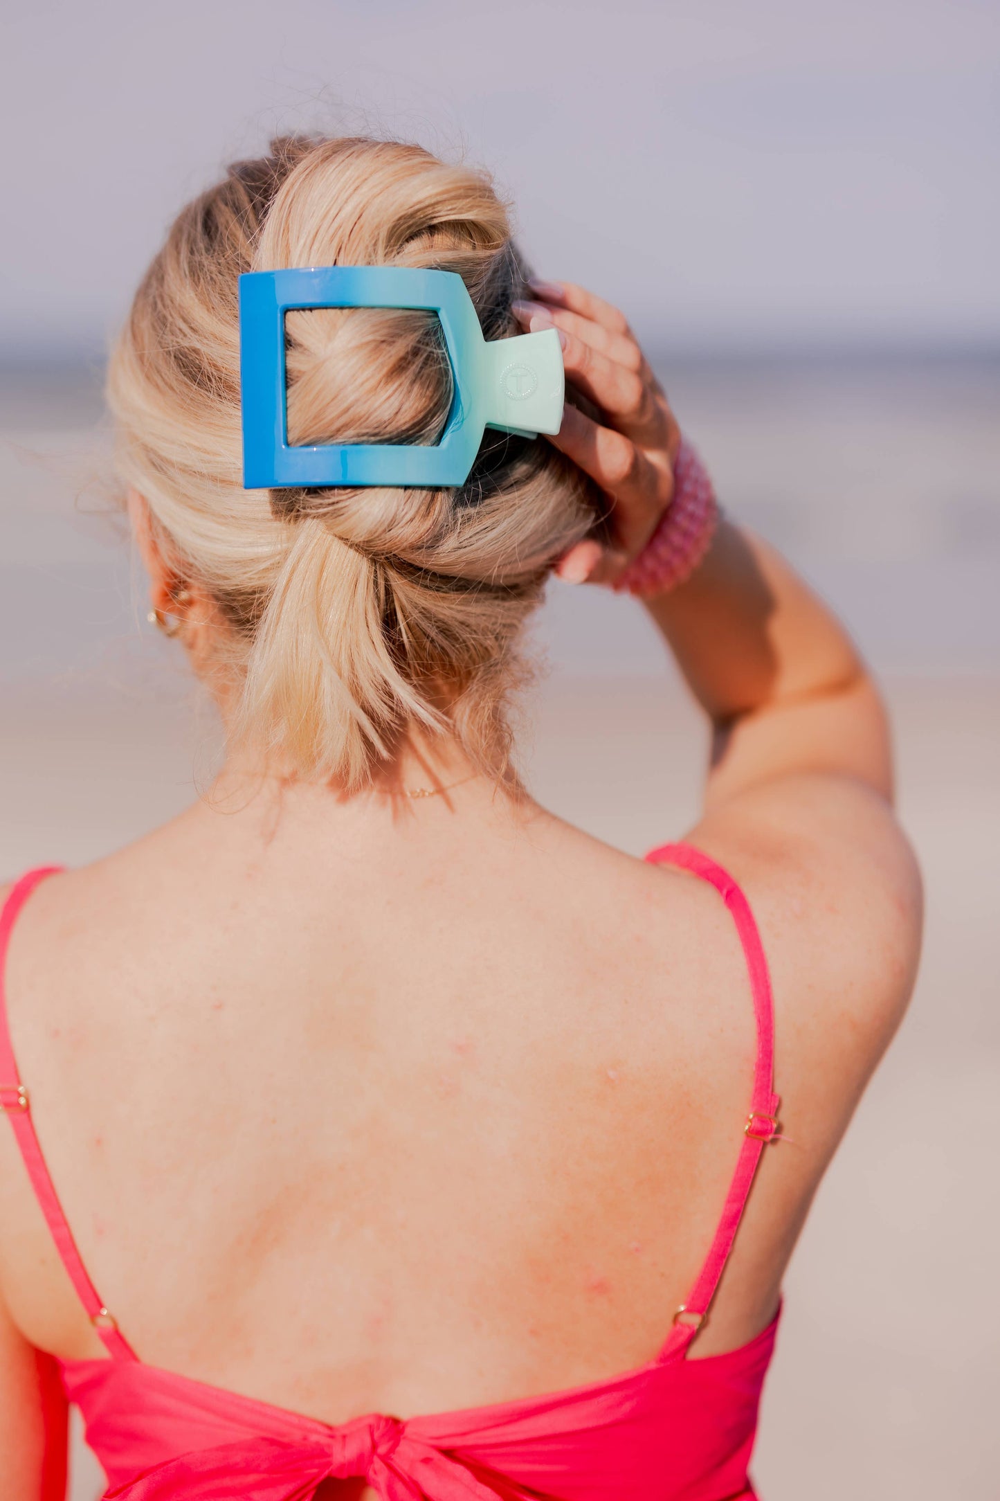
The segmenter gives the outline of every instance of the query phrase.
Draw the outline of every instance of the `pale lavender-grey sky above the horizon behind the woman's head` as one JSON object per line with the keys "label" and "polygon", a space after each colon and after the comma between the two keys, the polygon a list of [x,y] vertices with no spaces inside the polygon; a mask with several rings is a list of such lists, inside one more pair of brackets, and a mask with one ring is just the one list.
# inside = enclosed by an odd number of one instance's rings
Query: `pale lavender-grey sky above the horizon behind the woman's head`
{"label": "pale lavender-grey sky above the horizon behind the woman's head", "polygon": [[0,362],[99,348],[274,129],[489,165],[660,348],[1000,342],[1000,0],[31,0],[0,36]]}

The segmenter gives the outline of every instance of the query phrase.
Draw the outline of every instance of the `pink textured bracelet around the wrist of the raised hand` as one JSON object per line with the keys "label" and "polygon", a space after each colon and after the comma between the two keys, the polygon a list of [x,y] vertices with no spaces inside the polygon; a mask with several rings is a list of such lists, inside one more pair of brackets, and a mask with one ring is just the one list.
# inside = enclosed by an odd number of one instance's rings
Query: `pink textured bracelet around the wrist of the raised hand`
{"label": "pink textured bracelet around the wrist of the raised hand", "polygon": [[709,549],[718,525],[718,501],[696,450],[681,438],[673,461],[673,500],[637,558],[615,588],[649,597],[684,584]]}

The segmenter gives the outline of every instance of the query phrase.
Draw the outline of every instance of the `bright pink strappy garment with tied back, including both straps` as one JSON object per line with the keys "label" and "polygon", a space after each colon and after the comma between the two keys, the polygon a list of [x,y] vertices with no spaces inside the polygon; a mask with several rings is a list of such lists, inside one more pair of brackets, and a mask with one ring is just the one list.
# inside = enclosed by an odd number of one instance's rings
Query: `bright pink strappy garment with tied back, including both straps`
{"label": "bright pink strappy garment with tied back, including both straps", "polygon": [[[747,1475],[775,1321],[748,1345],[687,1360],[715,1292],[766,1141],[777,1135],[774,1012],[760,937],[738,886],[706,856],[664,845],[652,862],[682,866],[723,895],[744,946],[757,1016],[748,1117],[705,1265],[660,1354],[636,1370],[568,1391],[432,1417],[384,1414],[330,1426],[144,1364],[100,1301],[39,1151],[27,1090],[10,1051],[3,958],[33,871],[0,916],[0,1105],[9,1114],[66,1270],[109,1360],[60,1363],[108,1475],[105,1501],[312,1501],[364,1477],[384,1501],[753,1501]],[[354,1492],[352,1492],[354,1493]]]}

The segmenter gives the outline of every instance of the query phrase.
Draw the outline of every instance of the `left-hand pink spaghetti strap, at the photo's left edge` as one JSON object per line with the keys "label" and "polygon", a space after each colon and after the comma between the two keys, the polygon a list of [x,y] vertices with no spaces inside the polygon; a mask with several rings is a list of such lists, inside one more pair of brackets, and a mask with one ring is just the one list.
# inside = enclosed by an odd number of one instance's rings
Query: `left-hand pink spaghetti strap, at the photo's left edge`
{"label": "left-hand pink spaghetti strap, at the photo's left edge", "polygon": [[3,910],[0,911],[0,1109],[10,1120],[13,1135],[16,1136],[18,1147],[21,1148],[21,1156],[24,1157],[24,1166],[27,1168],[31,1187],[34,1189],[34,1195],[39,1201],[42,1213],[45,1214],[52,1240],[55,1241],[55,1249],[58,1250],[61,1262],[69,1273],[70,1282],[79,1294],[79,1301],[82,1303],[90,1322],[97,1330],[97,1334],[111,1355],[118,1360],[135,1360],[135,1352],[127,1340],[118,1333],[114,1318],[108,1313],[106,1307],[97,1297],[97,1291],[87,1276],[87,1270],[82,1264],[79,1252],[76,1250],[76,1243],[73,1241],[69,1225],[66,1223],[66,1216],[60,1207],[55,1186],[52,1184],[48,1168],[45,1166],[42,1148],[34,1133],[34,1126],[31,1123],[31,1102],[28,1090],[21,1082],[21,1075],[18,1073],[10,1043],[10,1028],[7,1025],[4,970],[10,932],[18,913],[34,887],[39,886],[48,875],[58,874],[58,871],[60,866],[42,866],[37,871],[28,871],[28,874],[22,875],[16,883],[7,896]]}

